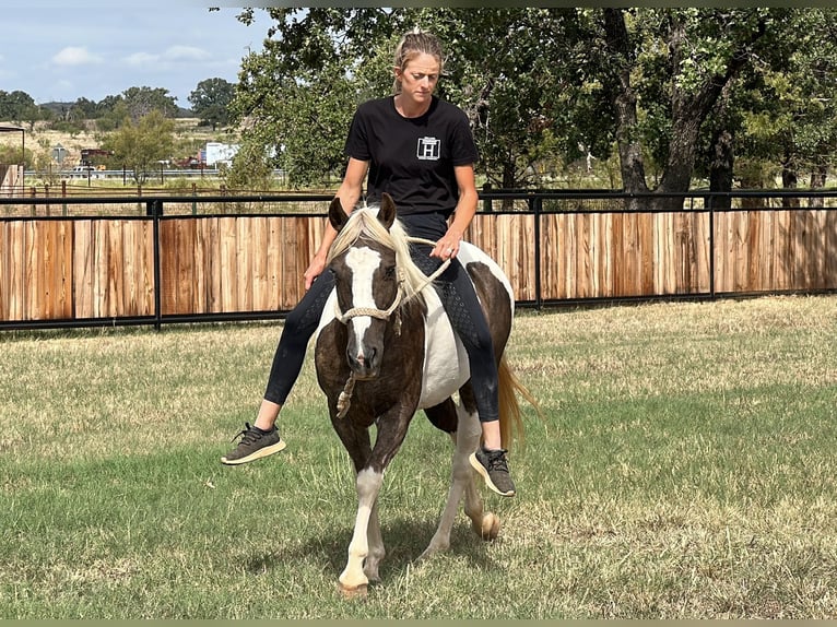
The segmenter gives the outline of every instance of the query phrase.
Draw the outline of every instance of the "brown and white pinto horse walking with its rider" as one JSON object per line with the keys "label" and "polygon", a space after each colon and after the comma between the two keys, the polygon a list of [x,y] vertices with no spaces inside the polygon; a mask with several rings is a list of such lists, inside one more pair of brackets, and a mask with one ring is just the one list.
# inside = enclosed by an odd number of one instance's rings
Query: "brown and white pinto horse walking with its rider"
{"label": "brown and white pinto horse walking with its rider", "polygon": [[[368,583],[379,581],[386,551],[377,498],[384,471],[417,410],[450,434],[455,445],[447,502],[418,559],[449,548],[463,495],[464,512],[482,539],[495,540],[500,522],[484,509],[476,473],[468,461],[481,436],[468,355],[432,277],[410,258],[411,241],[396,217],[392,198],[385,193],[378,205],[358,206],[350,214],[335,198],[329,221],[338,232],[327,260],[335,283],[316,332],[315,365],[331,424],[355,471],[357,513],[349,558],[339,577],[340,590],[353,596],[366,594]],[[516,393],[532,400],[503,356],[511,331],[514,294],[500,268],[478,247],[462,241],[458,259],[476,288],[491,328],[506,448],[523,433]],[[377,428],[374,446],[373,425]]]}

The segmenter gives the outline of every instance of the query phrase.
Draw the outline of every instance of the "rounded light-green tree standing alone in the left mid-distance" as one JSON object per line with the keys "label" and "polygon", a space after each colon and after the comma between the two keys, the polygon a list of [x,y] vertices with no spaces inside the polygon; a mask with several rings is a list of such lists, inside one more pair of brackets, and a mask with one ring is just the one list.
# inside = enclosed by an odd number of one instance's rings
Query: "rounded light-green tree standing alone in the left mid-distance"
{"label": "rounded light-green tree standing alone in the left mid-distance", "polygon": [[174,132],[174,121],[160,110],[152,110],[139,121],[128,120],[108,134],[102,147],[114,151],[111,162],[133,170],[133,180],[142,185],[160,168],[161,161],[172,158]]}

